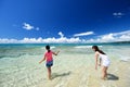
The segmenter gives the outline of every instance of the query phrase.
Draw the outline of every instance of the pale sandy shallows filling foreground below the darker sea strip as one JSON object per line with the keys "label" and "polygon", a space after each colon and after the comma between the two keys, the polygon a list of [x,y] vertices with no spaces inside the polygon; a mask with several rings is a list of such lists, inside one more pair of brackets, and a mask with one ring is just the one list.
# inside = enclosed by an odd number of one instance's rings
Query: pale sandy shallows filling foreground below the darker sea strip
{"label": "pale sandy shallows filling foreground below the darker sea strip", "polygon": [[[48,79],[46,62],[38,63],[43,57],[43,49],[32,48],[20,50],[17,53],[25,52],[20,57],[0,59],[0,87],[130,87],[130,60],[126,60],[130,57],[129,46],[102,49],[112,62],[106,80],[101,79],[102,66],[94,69],[91,48],[62,48],[60,54],[54,57],[52,80]],[[13,53],[16,55],[15,50],[11,50],[10,54]]]}

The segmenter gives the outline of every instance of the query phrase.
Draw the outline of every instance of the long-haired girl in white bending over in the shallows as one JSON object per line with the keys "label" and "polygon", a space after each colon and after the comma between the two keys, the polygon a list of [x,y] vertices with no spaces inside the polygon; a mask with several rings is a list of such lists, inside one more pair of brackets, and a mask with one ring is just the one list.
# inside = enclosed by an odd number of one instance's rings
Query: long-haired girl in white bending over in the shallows
{"label": "long-haired girl in white bending over in the shallows", "polygon": [[109,58],[102,51],[99,49],[98,46],[93,46],[92,47],[93,51],[95,51],[95,70],[98,70],[98,58],[100,58],[100,64],[101,65],[101,61],[102,61],[102,79],[105,79],[107,77],[107,69],[110,64]]}

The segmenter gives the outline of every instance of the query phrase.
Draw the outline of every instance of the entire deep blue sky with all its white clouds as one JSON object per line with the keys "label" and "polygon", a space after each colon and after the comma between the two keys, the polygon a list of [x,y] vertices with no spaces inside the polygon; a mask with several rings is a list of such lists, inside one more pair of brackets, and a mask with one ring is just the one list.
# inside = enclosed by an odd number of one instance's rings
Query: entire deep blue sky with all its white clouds
{"label": "entire deep blue sky with all its white clouds", "polygon": [[130,0],[0,0],[0,44],[130,41]]}

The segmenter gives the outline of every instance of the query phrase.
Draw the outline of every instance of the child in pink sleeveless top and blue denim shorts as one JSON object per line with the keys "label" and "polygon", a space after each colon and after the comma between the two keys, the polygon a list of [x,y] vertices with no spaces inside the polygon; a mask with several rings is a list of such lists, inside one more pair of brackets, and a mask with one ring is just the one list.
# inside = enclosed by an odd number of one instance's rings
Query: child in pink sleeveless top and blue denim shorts
{"label": "child in pink sleeveless top and blue denim shorts", "polygon": [[43,62],[44,60],[47,61],[46,66],[48,69],[48,74],[49,74],[48,76],[49,76],[49,79],[51,79],[51,66],[53,65],[52,54],[57,55],[60,51],[57,52],[51,51],[50,46],[46,46],[46,49],[47,49],[47,52],[44,53],[43,59],[39,63]]}

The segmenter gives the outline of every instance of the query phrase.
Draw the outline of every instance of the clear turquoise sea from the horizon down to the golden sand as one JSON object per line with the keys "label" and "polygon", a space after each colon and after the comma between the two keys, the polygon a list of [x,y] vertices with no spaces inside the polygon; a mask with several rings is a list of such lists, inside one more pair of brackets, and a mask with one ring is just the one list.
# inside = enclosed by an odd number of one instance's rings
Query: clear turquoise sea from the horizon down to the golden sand
{"label": "clear turquoise sea from the horizon down to the golden sand", "polygon": [[[0,87],[37,87],[47,80],[43,57],[44,44],[40,45],[0,45]],[[54,72],[69,73],[77,66],[93,64],[94,52],[91,44],[52,44],[53,51],[60,50],[54,57]],[[129,44],[98,44],[112,60],[130,60]],[[46,72],[44,72],[46,71]]]}

